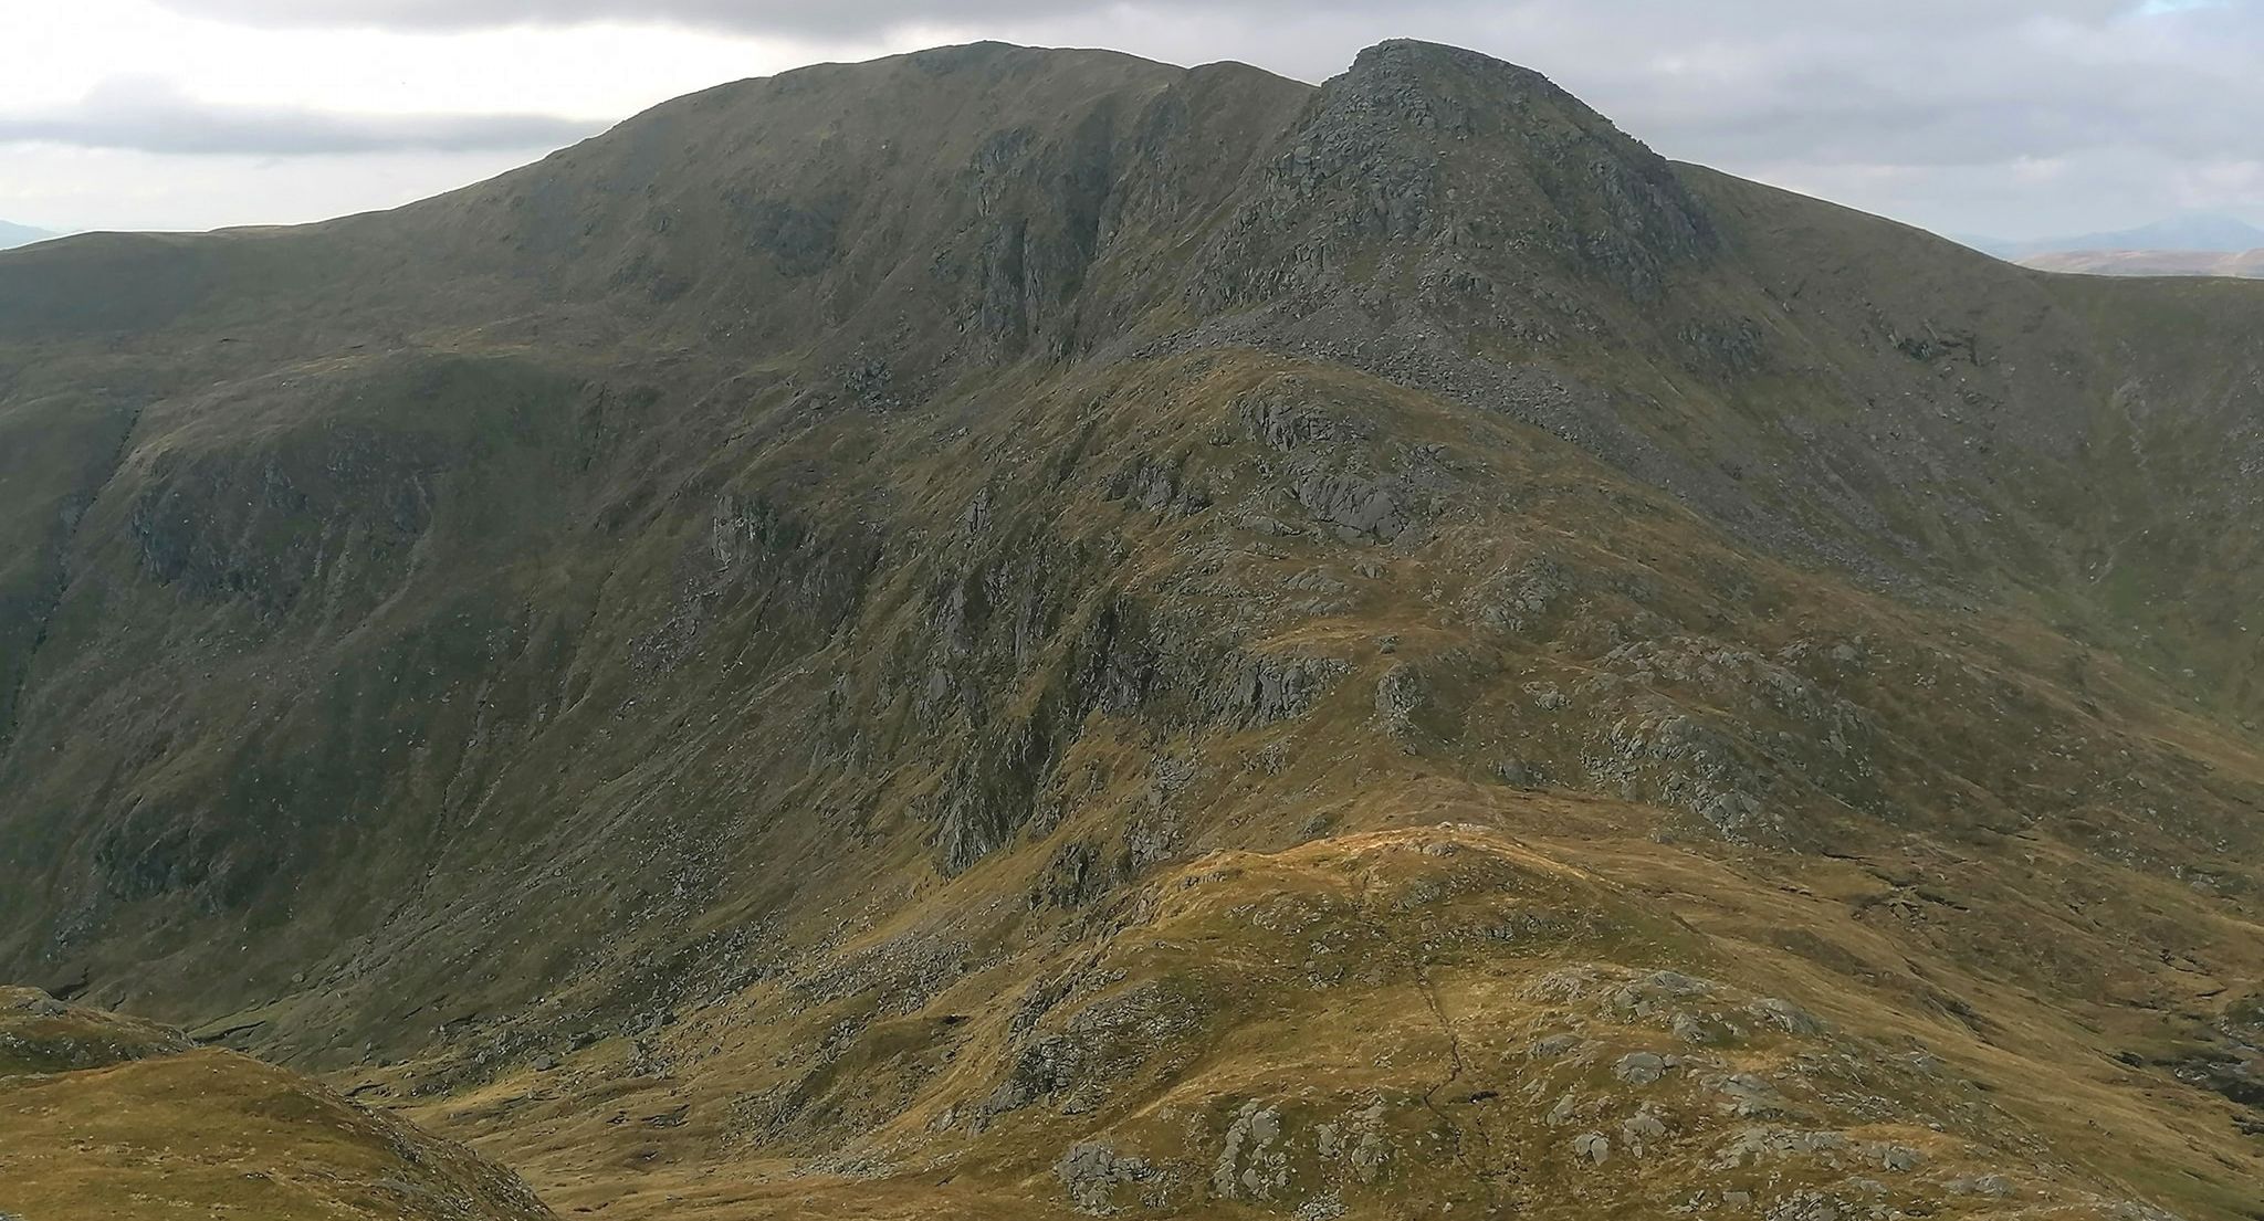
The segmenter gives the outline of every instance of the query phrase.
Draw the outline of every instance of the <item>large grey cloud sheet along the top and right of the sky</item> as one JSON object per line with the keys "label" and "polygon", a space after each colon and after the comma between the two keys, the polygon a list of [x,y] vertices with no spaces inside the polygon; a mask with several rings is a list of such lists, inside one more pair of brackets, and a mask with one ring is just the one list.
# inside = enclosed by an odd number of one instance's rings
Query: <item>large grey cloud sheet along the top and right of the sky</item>
{"label": "large grey cloud sheet along the top and right of the sky", "polygon": [[[1988,185],[1999,181],[2029,215],[2069,210],[2053,192],[2087,194],[2087,228],[2153,219],[2196,194],[2264,219],[2264,199],[2241,194],[2253,188],[2223,185],[2253,183],[2239,167],[2259,156],[2264,2],[2253,0],[161,2],[297,27],[670,23],[792,38],[813,54],[876,36],[994,36],[1243,59],[1313,81],[1367,43],[1415,36],[1549,72],[1669,156],[1827,183],[1843,201],[1918,219],[2029,228]],[[2069,167],[2038,179],[2040,163]],[[2133,172],[2149,179],[2119,179]]]}

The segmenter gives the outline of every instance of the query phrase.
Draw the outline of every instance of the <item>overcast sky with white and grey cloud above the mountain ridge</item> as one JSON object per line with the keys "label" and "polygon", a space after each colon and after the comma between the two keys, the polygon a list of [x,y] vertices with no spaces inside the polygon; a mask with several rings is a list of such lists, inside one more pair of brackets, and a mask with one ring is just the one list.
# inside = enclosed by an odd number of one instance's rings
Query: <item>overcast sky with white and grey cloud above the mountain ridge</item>
{"label": "overcast sky with white and grey cloud above the mountain ridge", "polygon": [[2264,224],[2264,0],[0,0],[0,219],[385,208],[679,93],[969,38],[1320,81],[1392,36],[1945,233]]}

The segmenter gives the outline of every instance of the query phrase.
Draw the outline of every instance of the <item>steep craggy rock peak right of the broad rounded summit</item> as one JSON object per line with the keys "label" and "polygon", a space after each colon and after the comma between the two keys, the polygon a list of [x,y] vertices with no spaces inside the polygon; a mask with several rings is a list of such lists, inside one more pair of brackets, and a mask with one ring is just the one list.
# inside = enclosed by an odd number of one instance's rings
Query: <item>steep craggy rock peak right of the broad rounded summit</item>
{"label": "steep craggy rock peak right of the broad rounded summit", "polygon": [[1467,50],[1361,52],[1279,149],[1211,251],[1211,310],[1383,289],[1483,330],[1594,330],[1583,319],[1655,301],[1718,249],[1662,156],[1540,72]]}

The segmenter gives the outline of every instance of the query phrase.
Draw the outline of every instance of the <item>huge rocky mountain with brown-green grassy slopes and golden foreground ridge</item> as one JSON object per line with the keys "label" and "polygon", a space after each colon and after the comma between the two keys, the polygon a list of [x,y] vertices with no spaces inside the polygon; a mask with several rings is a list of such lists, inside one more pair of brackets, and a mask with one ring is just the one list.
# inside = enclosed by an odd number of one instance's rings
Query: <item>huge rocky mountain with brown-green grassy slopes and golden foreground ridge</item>
{"label": "huge rocky mountain with brown-green grassy slopes and golden foreground ridge", "polygon": [[559,1214],[2253,1219],[2259,337],[1426,43],[14,251],[0,977]]}

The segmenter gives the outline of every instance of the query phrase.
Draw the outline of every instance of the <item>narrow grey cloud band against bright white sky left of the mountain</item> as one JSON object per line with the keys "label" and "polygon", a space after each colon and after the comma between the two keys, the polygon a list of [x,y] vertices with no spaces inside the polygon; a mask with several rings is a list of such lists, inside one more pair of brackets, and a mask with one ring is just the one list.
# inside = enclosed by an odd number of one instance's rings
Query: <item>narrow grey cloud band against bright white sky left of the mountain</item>
{"label": "narrow grey cloud band against bright white sky left of the mountain", "polygon": [[197,102],[163,81],[111,81],[79,104],[0,113],[0,145],[154,154],[371,154],[555,149],[602,124],[552,115],[376,115]]}

